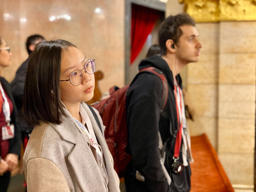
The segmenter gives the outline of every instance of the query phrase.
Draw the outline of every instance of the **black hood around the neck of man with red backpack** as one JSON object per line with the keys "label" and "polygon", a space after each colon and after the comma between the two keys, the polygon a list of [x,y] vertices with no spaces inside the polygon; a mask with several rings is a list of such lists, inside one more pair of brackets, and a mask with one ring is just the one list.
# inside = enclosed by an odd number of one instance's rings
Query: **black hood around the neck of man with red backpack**
{"label": "black hood around the neck of man with red backpack", "polygon": [[[172,71],[170,70],[168,64],[166,63],[166,61],[159,55],[154,55],[152,57],[148,57],[146,59],[143,59],[141,62],[140,62],[140,65],[138,66],[139,70],[145,68],[145,67],[155,67],[159,70],[161,70],[169,85],[174,89],[174,83],[173,83],[173,73]],[[180,75],[178,74],[176,76],[176,79],[177,79],[177,82],[179,84],[179,87],[181,89],[183,89],[182,87],[182,79],[180,77]]]}

